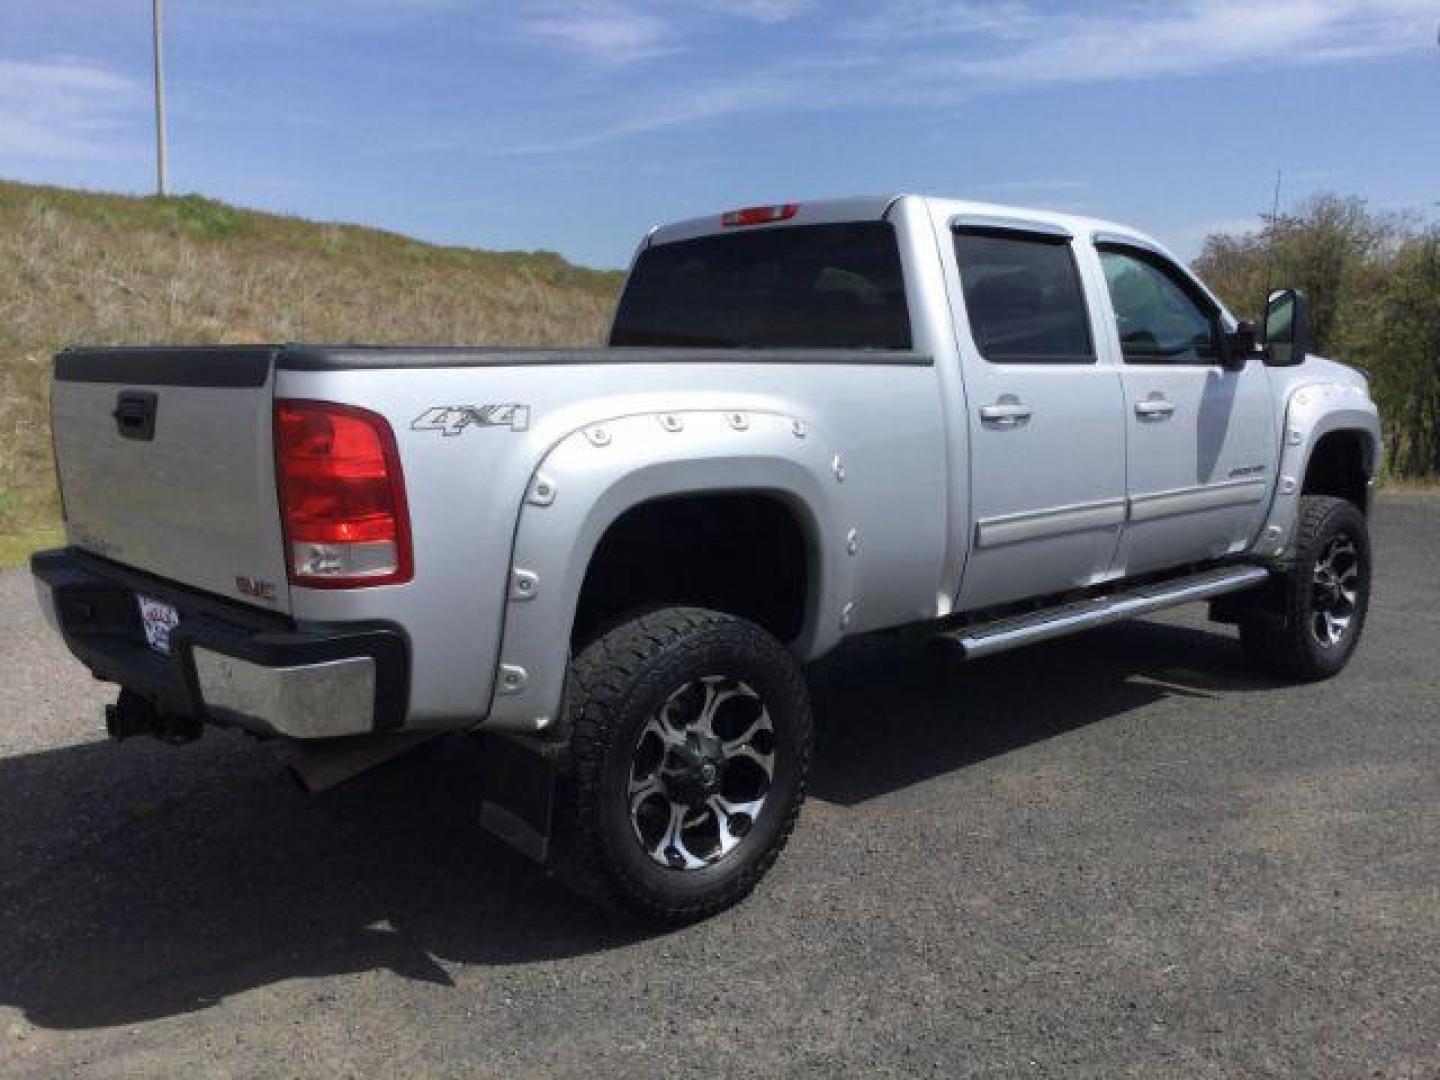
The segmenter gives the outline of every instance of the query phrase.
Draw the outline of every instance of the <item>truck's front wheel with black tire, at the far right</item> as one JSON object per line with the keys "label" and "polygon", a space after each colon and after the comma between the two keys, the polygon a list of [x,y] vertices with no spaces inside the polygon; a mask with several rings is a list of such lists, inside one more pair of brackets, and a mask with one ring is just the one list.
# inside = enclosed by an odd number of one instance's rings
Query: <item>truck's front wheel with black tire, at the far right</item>
{"label": "truck's front wheel with black tire, at the far right", "polygon": [[1316,681],[1339,674],[1359,644],[1369,609],[1369,531],[1354,503],[1329,495],[1300,500],[1297,528],[1277,611],[1241,621],[1240,645],[1264,671]]}

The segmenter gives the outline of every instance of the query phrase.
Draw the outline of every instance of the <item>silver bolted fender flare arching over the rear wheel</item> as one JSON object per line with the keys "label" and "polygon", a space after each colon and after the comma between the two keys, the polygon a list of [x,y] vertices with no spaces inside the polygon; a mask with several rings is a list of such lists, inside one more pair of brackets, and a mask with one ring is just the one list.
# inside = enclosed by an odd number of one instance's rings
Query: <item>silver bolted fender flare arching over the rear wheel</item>
{"label": "silver bolted fender flare arching over the rear wheel", "polygon": [[543,732],[560,716],[580,588],[606,530],[657,498],[770,494],[791,508],[811,563],[795,652],[834,645],[852,605],[855,559],[838,451],[776,412],[635,413],[560,439],[530,478],[516,524],[500,662],[482,730]]}

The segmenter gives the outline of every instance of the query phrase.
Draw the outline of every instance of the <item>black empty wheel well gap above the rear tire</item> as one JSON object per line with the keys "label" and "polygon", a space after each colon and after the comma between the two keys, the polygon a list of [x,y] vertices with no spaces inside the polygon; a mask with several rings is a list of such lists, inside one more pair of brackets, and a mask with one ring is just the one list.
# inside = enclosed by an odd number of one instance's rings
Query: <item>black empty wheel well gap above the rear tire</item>
{"label": "black empty wheel well gap above the rear tire", "polygon": [[779,495],[642,503],[611,524],[590,556],[570,639],[583,645],[635,611],[691,605],[793,641],[805,624],[809,563],[806,533]]}

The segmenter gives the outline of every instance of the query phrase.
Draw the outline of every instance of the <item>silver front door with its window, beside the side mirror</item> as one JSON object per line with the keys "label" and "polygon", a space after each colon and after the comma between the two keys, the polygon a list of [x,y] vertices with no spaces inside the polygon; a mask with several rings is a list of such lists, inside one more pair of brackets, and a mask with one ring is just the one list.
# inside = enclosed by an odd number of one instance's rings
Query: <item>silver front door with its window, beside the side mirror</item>
{"label": "silver front door with its window, beside the side mirror", "polygon": [[1122,359],[1126,575],[1244,550],[1261,526],[1277,444],[1264,364],[1220,364],[1220,305],[1164,252],[1104,239],[1110,346]]}

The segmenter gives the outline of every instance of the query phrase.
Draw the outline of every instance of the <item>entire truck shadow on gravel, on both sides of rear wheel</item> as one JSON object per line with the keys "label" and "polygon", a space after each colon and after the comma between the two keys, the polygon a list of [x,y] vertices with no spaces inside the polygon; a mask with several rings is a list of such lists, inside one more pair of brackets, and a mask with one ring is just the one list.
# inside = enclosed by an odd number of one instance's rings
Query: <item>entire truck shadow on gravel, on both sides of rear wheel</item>
{"label": "entire truck shadow on gravel, on both sides of rear wheel", "polygon": [[[865,642],[812,683],[812,791],[845,805],[1165,696],[1264,685],[1231,639],[1158,624],[968,668]],[[289,979],[384,969],[451,985],[459,965],[638,940],[478,829],[475,766],[472,740],[446,740],[311,798],[229,734],[0,760],[0,1005],[92,1028]]]}

